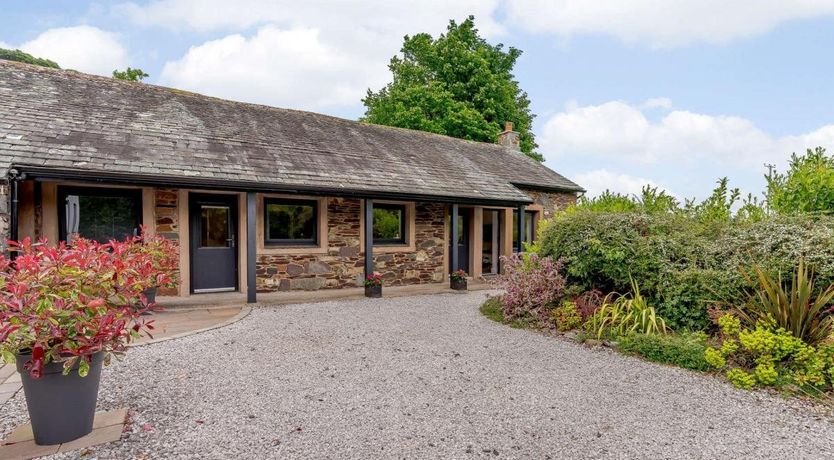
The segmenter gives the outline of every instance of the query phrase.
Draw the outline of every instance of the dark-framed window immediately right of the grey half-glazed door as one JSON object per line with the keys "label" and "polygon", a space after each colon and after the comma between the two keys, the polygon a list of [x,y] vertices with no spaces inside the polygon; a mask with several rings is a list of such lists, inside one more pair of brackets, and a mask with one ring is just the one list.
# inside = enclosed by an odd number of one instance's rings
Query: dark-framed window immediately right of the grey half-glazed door
{"label": "dark-framed window immediately right of the grey half-glazed door", "polygon": [[264,241],[272,245],[316,245],[318,202],[264,200]]}

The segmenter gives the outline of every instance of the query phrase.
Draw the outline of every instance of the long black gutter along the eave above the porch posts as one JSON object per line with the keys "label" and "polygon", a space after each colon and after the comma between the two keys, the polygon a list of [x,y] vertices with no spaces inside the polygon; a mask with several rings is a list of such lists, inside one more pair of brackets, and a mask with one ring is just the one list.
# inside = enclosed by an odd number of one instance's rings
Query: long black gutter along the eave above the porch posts
{"label": "long black gutter along the eave above the porch posts", "polygon": [[533,200],[494,200],[472,197],[455,197],[444,195],[427,195],[419,193],[399,193],[385,191],[368,191],[343,188],[326,188],[297,185],[264,184],[259,182],[230,181],[224,179],[209,179],[199,177],[153,177],[142,174],[111,173],[105,171],[90,171],[83,169],[65,170],[47,168],[43,166],[15,164],[11,166],[10,172],[17,170],[39,181],[66,180],[66,181],[88,181],[123,185],[145,185],[155,187],[176,187],[190,189],[215,189],[236,192],[265,192],[265,193],[286,193],[295,195],[313,196],[338,196],[362,199],[380,200],[406,200],[436,203],[457,203],[479,206],[496,206],[502,208],[515,208],[521,204],[533,203]]}

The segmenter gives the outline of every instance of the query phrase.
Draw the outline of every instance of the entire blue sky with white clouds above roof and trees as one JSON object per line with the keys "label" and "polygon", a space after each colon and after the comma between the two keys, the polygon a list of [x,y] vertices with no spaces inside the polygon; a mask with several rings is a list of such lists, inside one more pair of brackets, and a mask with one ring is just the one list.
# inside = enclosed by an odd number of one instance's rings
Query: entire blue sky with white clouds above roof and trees
{"label": "entire blue sky with white clouds above roof and trees", "polygon": [[539,151],[589,195],[703,198],[726,176],[761,196],[766,164],[834,151],[834,0],[0,1],[0,47],[350,119],[404,35],[474,15],[524,52]]}

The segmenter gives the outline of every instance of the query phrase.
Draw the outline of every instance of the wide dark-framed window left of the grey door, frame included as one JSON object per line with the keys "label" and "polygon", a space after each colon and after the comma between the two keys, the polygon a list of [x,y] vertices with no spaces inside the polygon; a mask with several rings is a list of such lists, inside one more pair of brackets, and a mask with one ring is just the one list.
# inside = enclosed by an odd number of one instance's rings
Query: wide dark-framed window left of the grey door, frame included
{"label": "wide dark-framed window left of the grey door, frame included", "polygon": [[64,241],[79,235],[106,243],[139,234],[140,190],[62,187],[59,200],[59,237]]}

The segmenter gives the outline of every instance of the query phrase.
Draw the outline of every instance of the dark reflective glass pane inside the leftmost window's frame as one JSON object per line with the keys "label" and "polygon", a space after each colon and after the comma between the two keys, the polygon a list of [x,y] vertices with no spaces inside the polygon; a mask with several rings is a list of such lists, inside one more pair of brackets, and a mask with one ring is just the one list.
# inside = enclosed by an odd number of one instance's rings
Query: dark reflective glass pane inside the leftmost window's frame
{"label": "dark reflective glass pane inside the leftmost window's frame", "polygon": [[136,231],[138,208],[132,196],[67,196],[67,235],[106,243],[123,240]]}

